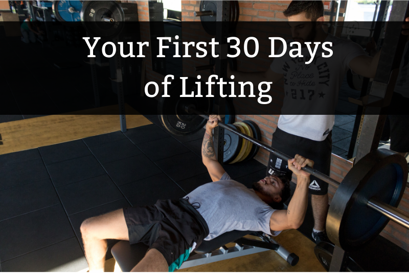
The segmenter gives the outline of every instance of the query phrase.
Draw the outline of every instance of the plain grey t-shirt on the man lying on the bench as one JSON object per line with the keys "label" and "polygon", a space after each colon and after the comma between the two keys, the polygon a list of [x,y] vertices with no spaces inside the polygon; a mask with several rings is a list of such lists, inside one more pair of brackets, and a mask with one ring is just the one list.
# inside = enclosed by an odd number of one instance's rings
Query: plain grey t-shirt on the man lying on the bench
{"label": "plain grey t-shirt on the man lying on the bench", "polygon": [[270,230],[272,209],[243,184],[232,180],[225,172],[220,181],[202,185],[188,195],[189,203],[199,203],[197,211],[206,220],[211,240],[232,230],[262,231],[277,236],[281,231]]}

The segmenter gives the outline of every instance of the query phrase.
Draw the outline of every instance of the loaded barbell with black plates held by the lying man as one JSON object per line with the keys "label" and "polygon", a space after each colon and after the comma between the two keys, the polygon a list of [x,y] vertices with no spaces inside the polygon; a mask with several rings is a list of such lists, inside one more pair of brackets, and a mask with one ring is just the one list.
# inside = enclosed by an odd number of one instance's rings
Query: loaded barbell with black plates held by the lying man
{"label": "loaded barbell with black plates held by the lying man", "polygon": [[[188,91],[197,90],[196,84],[193,84],[197,81],[195,78],[187,80]],[[213,109],[212,100],[206,96],[180,97],[180,94],[181,81],[172,82],[170,97],[161,97],[158,102],[158,113],[169,132],[187,136],[205,126],[210,109]],[[292,158],[223,122],[218,122],[218,126],[285,161]],[[329,239],[343,250],[356,250],[370,242],[384,229],[389,219],[409,229],[409,216],[396,208],[403,196],[408,175],[404,157],[389,150],[374,150],[352,167],[342,183],[308,166],[303,170],[337,188],[328,211],[326,227]]]}

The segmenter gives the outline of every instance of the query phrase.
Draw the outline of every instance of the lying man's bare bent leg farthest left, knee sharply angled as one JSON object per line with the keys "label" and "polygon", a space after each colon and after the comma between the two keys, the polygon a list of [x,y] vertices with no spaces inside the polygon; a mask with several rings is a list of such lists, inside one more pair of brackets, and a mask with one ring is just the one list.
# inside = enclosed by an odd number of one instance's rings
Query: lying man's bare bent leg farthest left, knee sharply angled
{"label": "lying man's bare bent leg farthest left, knee sharply angled", "polygon": [[122,209],[86,219],[81,234],[89,271],[104,271],[106,239],[129,240]]}

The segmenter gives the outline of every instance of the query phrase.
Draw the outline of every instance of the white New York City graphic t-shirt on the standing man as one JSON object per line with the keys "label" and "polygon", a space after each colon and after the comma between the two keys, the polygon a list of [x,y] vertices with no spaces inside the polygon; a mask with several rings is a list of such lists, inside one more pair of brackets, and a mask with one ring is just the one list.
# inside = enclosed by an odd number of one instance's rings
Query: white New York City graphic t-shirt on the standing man
{"label": "white New York City graphic t-shirt on the standing man", "polygon": [[[302,58],[290,57],[290,46],[294,40],[287,40],[287,51],[282,57],[275,58],[270,68],[284,75],[284,103],[281,109],[278,127],[290,134],[316,141],[326,138],[333,126],[333,114],[338,101],[338,91],[345,73],[350,69],[349,62],[355,57],[366,55],[362,47],[351,40],[336,38],[328,34],[324,42],[331,42],[332,56],[328,55],[321,43],[310,64],[305,64],[311,57],[307,47],[301,50]],[[311,45],[314,48],[314,44]],[[277,53],[283,52],[281,46]],[[292,116],[288,116],[292,114]],[[305,115],[297,117],[297,115]],[[314,117],[318,114],[321,117]],[[325,134],[328,131],[327,134]]]}

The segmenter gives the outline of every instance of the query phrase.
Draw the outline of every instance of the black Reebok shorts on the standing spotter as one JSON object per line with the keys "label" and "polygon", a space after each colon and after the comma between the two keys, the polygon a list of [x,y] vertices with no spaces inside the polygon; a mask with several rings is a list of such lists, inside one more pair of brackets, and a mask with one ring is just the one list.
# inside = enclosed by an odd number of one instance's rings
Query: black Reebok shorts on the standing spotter
{"label": "black Reebok shorts on the standing spotter", "polygon": [[[314,169],[321,171],[329,176],[331,170],[331,152],[332,152],[332,131],[323,141],[315,141],[305,137],[291,135],[277,128],[272,134],[271,147],[294,157],[297,154],[314,161]],[[266,175],[272,175],[274,172],[286,173],[290,178],[292,171],[288,169],[287,162],[278,158],[274,153],[270,153],[268,159]],[[291,178],[290,178],[291,179]],[[310,177],[309,193],[314,195],[324,195],[328,193],[328,183],[314,176]]]}

